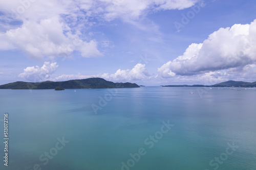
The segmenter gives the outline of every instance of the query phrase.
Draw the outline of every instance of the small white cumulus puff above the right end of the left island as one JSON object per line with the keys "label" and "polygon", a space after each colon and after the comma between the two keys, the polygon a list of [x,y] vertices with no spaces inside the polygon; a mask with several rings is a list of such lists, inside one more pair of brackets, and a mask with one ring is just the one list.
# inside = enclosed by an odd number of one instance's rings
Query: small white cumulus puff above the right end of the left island
{"label": "small white cumulus puff above the right end of the left island", "polygon": [[115,74],[102,74],[99,77],[111,81],[145,80],[150,78],[145,64],[136,64],[133,69],[118,69]]}

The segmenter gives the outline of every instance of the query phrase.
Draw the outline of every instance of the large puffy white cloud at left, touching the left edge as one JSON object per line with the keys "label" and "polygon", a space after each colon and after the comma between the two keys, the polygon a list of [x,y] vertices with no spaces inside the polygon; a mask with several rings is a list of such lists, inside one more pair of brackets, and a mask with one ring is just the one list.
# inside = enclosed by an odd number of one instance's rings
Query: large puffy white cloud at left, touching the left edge
{"label": "large puffy white cloud at left, touching the left edge", "polygon": [[21,49],[37,59],[44,59],[45,56],[67,57],[75,50],[80,51],[82,57],[102,56],[97,50],[95,40],[83,41],[69,29],[58,17],[42,19],[39,22],[26,20],[20,28],[0,34],[0,50]]}

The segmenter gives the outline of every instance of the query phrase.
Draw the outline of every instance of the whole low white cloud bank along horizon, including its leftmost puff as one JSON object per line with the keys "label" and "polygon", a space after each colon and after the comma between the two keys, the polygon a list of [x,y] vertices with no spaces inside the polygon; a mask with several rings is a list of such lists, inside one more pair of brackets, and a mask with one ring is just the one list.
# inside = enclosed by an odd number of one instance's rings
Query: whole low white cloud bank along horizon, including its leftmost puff
{"label": "whole low white cloud bank along horizon, including its leftmost puff", "polygon": [[[132,69],[121,70],[118,69],[114,74],[98,74],[98,75],[60,75],[53,77],[53,73],[58,67],[57,63],[45,62],[42,67],[32,66],[24,69],[24,72],[18,77],[31,82],[41,82],[41,81],[67,81],[76,79],[88,79],[100,77],[108,81],[114,82],[144,82],[144,83],[160,83],[161,85],[172,85],[172,84],[189,84],[194,82],[194,84],[204,84],[213,85],[216,83],[235,80],[235,81],[250,81],[256,80],[256,64],[249,64],[243,68],[229,68],[225,70],[209,71],[201,75],[192,76],[172,76],[169,79],[164,79],[163,77],[148,74],[144,64],[137,64]],[[0,72],[3,74],[3,72]],[[241,79],[242,78],[242,79]]]}

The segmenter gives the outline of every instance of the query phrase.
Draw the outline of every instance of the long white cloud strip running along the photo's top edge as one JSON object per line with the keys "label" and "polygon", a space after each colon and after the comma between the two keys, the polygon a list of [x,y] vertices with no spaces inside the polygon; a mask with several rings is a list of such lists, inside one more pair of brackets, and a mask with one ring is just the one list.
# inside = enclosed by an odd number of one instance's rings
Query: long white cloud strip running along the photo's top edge
{"label": "long white cloud strip running along the photo's top edge", "polygon": [[[26,20],[45,19],[65,14],[68,18],[77,16],[115,18],[138,18],[151,10],[181,10],[194,6],[200,0],[65,0],[65,1],[0,1],[0,10],[12,18]],[[56,8],[57,7],[57,8]],[[77,19],[77,18],[76,18]]]}

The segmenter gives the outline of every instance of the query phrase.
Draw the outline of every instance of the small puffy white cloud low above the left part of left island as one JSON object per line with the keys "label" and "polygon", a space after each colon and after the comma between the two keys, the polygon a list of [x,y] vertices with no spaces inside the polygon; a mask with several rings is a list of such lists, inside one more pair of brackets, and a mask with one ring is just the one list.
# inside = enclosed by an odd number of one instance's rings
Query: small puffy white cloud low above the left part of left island
{"label": "small puffy white cloud low above the left part of left island", "polygon": [[45,62],[42,67],[32,66],[25,68],[24,72],[19,74],[18,77],[31,82],[47,81],[51,78],[51,75],[55,72],[57,67],[56,62]]}

